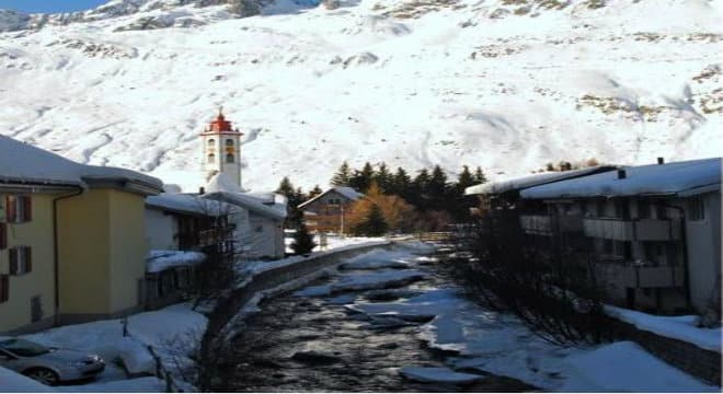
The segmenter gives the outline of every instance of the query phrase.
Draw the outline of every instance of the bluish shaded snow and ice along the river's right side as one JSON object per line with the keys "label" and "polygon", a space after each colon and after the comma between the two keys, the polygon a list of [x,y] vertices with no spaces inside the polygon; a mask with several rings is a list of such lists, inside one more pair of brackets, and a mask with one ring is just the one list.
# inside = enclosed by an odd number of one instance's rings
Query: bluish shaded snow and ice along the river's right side
{"label": "bluish shaded snow and ice along the river's right side", "polygon": [[[515,378],[546,391],[721,390],[663,362],[634,343],[619,341],[583,348],[553,346],[532,334],[516,317],[490,312],[467,301],[454,287],[379,290],[399,288],[398,278],[429,274],[425,267],[429,260],[429,257],[414,255],[410,250],[369,252],[342,265],[342,268],[354,269],[351,273],[341,271],[329,283],[307,287],[295,296],[331,297],[333,303],[345,304],[349,311],[368,316],[369,324],[376,327],[428,321],[418,326],[418,337],[433,348],[454,350],[458,356],[446,358],[447,368],[399,366],[399,373],[416,381],[469,383],[483,379],[483,373],[490,372]],[[401,267],[400,262],[406,267]],[[381,291],[387,296],[397,292],[400,300],[365,301]],[[695,327],[689,327],[688,332],[695,333]],[[474,370],[481,374],[468,373]]]}

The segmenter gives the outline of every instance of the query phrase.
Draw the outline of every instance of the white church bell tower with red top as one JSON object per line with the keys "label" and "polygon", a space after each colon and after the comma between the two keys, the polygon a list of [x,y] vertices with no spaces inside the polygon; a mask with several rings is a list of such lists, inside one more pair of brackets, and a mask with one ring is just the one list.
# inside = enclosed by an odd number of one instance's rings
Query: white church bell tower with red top
{"label": "white church bell tower with red top", "polygon": [[223,116],[223,107],[218,109],[216,119],[200,134],[203,144],[203,171],[208,181],[222,173],[241,188],[241,136],[231,121]]}

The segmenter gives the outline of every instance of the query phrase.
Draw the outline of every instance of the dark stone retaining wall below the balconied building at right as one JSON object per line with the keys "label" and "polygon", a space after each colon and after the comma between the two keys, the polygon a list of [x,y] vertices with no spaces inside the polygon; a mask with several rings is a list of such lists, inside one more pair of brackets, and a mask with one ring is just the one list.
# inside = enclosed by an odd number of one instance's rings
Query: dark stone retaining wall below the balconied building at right
{"label": "dark stone retaining wall below the balconied building at right", "polygon": [[610,325],[616,337],[636,343],[655,357],[709,384],[721,385],[720,352],[640,329],[616,318],[610,318]]}

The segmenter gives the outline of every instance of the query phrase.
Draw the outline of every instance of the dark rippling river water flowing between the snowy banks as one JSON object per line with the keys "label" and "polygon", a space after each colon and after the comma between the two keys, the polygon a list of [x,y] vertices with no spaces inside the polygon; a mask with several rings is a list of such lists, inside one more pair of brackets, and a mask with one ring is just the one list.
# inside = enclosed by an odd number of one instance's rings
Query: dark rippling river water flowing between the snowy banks
{"label": "dark rippling river water flowing between the snowy banks", "polygon": [[[379,253],[366,269],[347,267],[319,279],[323,287],[355,275],[421,271],[421,280],[391,283],[393,290],[343,290],[311,296],[289,293],[263,302],[234,339],[236,368],[229,391],[243,392],[518,392],[535,390],[510,378],[484,374],[466,384],[418,382],[404,378],[401,367],[444,367],[455,356],[426,346],[418,336],[428,318],[399,325],[375,325],[355,304],[403,300],[454,285],[435,267],[436,259],[414,252]],[[374,260],[374,258],[371,258]],[[385,259],[390,263],[385,266]],[[392,262],[393,260],[393,262]],[[403,262],[403,264],[400,264]],[[369,262],[367,262],[369,263]],[[357,269],[354,269],[357,268]],[[414,278],[418,279],[418,278]],[[374,286],[372,286],[374,287]],[[323,291],[322,291],[323,292]],[[303,293],[301,293],[303,294]],[[480,371],[475,371],[480,373]]]}

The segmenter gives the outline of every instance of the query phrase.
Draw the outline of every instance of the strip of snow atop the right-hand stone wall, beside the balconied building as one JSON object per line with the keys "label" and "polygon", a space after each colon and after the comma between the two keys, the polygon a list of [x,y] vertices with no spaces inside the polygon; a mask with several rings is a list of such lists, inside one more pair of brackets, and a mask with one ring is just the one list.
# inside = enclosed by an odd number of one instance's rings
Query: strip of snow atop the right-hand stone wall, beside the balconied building
{"label": "strip of snow atop the right-hand stone wall, beside the balconied building", "polygon": [[699,316],[657,316],[611,305],[606,305],[605,312],[609,316],[630,323],[640,329],[721,352],[723,332],[720,327],[697,327]]}

